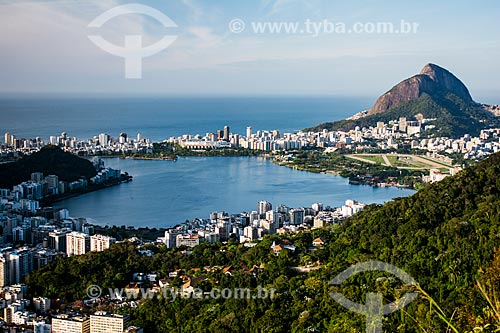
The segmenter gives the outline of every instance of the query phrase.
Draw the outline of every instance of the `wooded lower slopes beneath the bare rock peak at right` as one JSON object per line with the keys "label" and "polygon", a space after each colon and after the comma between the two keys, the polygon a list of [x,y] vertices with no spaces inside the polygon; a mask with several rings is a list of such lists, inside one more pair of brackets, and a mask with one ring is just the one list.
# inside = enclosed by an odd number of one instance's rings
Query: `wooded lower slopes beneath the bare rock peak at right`
{"label": "wooded lower slopes beneath the bare rock peak at right", "polygon": [[460,137],[464,134],[477,136],[481,129],[498,126],[498,117],[483,110],[480,105],[465,102],[454,94],[439,94],[434,96],[422,94],[418,99],[403,103],[386,112],[370,115],[357,120],[340,120],[320,124],[318,126],[305,129],[305,131],[332,130],[352,130],[356,126],[369,127],[376,126],[377,122],[389,123],[391,120],[398,120],[400,117],[413,119],[417,114],[423,114],[425,118],[436,118],[428,123],[436,128],[429,130],[429,135]]}

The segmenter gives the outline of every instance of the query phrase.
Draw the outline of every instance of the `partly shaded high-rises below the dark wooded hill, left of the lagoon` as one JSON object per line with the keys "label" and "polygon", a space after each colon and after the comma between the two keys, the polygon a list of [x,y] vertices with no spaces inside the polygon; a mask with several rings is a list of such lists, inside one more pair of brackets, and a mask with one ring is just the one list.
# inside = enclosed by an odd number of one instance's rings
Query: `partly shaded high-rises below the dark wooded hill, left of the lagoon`
{"label": "partly shaded high-rises below the dark wooded hill, left of the lagoon", "polygon": [[116,241],[94,234],[94,226],[85,218],[70,217],[67,209],[40,208],[36,199],[43,197],[44,186],[55,189],[59,182],[57,176],[44,178],[41,173],[32,179],[12,191],[0,189],[0,288],[22,283],[59,256],[103,251]]}

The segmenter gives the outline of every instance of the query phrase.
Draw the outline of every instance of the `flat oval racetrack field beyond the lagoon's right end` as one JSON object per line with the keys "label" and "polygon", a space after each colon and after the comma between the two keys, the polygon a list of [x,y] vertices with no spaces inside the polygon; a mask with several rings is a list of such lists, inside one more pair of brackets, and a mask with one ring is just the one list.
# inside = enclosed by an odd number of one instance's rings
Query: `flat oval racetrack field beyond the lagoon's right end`
{"label": "flat oval racetrack field beyond the lagoon's right end", "polygon": [[398,169],[430,170],[440,169],[447,171],[450,166],[441,161],[435,161],[429,157],[407,154],[350,154],[348,158],[359,161],[392,166]]}

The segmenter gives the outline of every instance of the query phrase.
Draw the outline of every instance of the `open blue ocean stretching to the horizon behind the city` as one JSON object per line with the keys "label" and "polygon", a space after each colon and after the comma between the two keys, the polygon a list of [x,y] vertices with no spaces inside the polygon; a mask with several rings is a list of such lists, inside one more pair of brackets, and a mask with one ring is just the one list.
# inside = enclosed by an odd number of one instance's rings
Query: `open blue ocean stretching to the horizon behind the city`
{"label": "open blue ocean stretching to the horizon behind the city", "polygon": [[213,97],[213,98],[0,98],[0,133],[18,138],[67,132],[79,139],[121,132],[160,141],[182,134],[233,133],[278,129],[298,131],[346,118],[369,108],[372,98]]}

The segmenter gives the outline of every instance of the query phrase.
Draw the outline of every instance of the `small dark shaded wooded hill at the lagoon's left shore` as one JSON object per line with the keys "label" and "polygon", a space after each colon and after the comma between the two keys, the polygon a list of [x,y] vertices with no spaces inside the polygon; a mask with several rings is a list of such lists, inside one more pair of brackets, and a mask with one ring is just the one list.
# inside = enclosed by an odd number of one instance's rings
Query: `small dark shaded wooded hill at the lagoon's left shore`
{"label": "small dark shaded wooded hill at the lagoon's left shore", "polygon": [[0,164],[0,187],[11,188],[29,180],[33,172],[56,175],[59,180],[67,182],[97,174],[90,161],[48,145],[16,162]]}

